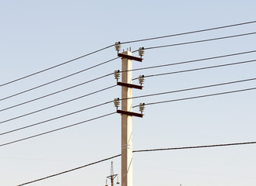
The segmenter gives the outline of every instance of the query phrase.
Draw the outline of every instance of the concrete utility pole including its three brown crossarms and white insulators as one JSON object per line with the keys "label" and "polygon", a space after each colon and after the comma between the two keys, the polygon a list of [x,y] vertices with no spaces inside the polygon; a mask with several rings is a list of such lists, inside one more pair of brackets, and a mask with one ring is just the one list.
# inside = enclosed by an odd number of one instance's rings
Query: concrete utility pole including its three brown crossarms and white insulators
{"label": "concrete utility pole including its three brown crossarms and white insulators", "polygon": [[[121,110],[117,109],[117,113],[121,114],[121,185],[132,186],[132,116],[143,116],[142,113],[132,112],[132,88],[142,89],[142,85],[132,84],[132,60],[142,62],[142,58],[133,57],[128,50],[118,53],[118,57],[122,58],[121,82],[117,81],[117,85],[121,86]],[[115,105],[118,107],[118,98]],[[141,105],[140,110],[143,111],[144,104]]]}

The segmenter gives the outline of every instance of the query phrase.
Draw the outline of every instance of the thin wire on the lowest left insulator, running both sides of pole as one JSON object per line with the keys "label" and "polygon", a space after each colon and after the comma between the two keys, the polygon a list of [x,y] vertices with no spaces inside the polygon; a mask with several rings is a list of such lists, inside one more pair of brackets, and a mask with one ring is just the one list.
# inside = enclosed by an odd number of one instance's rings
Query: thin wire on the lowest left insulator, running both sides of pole
{"label": "thin wire on the lowest left insulator, running both sides of pole", "polygon": [[[229,82],[224,82],[224,83],[219,83],[219,84],[210,84],[210,85],[205,85],[205,86],[202,86],[202,87],[185,88],[185,89],[180,89],[180,90],[175,90],[175,91],[165,91],[165,92],[160,92],[160,93],[155,93],[155,94],[150,94],[150,95],[139,95],[139,96],[135,96],[135,97],[132,97],[132,98],[133,99],[135,99],[135,98],[146,98],[146,97],[150,97],[150,96],[166,95],[166,94],[172,94],[172,93],[181,92],[181,91],[191,91],[191,90],[196,90],[196,89],[201,89],[201,88],[211,88],[211,87],[222,86],[222,85],[226,85],[226,84],[236,84],[236,83],[241,83],[241,82],[245,82],[245,81],[254,81],[254,80],[256,80],[256,77],[255,78],[250,78],[250,79],[239,80],[239,81],[229,81]],[[117,86],[117,85],[114,85],[114,86]],[[126,99],[132,99],[132,98],[121,98],[120,101],[121,100],[126,100]],[[110,103],[110,102],[107,102],[107,103]],[[70,115],[72,115],[72,113]],[[65,117],[65,116],[67,116],[67,115],[61,115],[61,116],[59,116],[57,118],[54,118],[54,119],[59,119],[59,118]],[[13,133],[13,132],[19,131],[21,129],[30,128],[32,126],[38,126],[38,125],[40,125],[44,122],[50,122],[54,119],[47,119],[43,122],[37,122],[37,123],[32,124],[30,126],[24,126],[24,127],[18,128],[18,129],[12,129],[12,130],[9,130],[7,132],[0,133],[0,136],[8,134],[8,133]]]}

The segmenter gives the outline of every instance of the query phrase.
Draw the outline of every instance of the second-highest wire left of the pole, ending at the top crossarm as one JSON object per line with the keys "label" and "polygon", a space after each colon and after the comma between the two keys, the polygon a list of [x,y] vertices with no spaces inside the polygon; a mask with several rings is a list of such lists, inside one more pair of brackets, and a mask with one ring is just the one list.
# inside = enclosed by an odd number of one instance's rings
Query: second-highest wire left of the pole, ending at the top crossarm
{"label": "second-highest wire left of the pole, ending at the top crossarm", "polygon": [[109,63],[109,62],[112,61],[112,60],[117,60],[118,58],[119,58],[119,57],[115,57],[114,59],[107,60],[107,61],[104,61],[103,63],[96,64],[96,65],[94,65],[94,66],[92,66],[92,67],[85,68],[85,69],[83,69],[82,71],[77,71],[77,72],[75,72],[75,73],[73,73],[73,74],[69,74],[69,75],[67,75],[67,76],[65,76],[65,77],[58,78],[58,79],[56,79],[56,80],[54,80],[54,81],[49,81],[49,82],[47,82],[47,83],[45,83],[45,84],[40,84],[40,85],[37,86],[37,87],[27,89],[26,91],[21,91],[21,92],[19,92],[19,93],[14,94],[14,95],[9,95],[9,96],[7,96],[7,97],[5,97],[5,98],[1,98],[0,101],[5,100],[5,99],[7,99],[7,98],[12,98],[12,97],[14,97],[14,96],[16,96],[16,95],[21,95],[21,94],[23,94],[23,93],[25,93],[25,92],[32,91],[32,90],[35,90],[35,89],[37,89],[37,88],[44,87],[44,86],[47,85],[47,84],[52,84],[52,83],[54,83],[54,82],[61,81],[61,80],[65,79],[65,78],[71,77],[71,76],[73,76],[73,75],[75,75],[75,74],[79,74],[79,73],[82,73],[82,72],[84,72],[84,71],[88,71],[88,70],[90,70],[90,69],[92,69],[92,68],[94,68],[94,67],[99,67],[100,65],[107,64],[107,63]]}

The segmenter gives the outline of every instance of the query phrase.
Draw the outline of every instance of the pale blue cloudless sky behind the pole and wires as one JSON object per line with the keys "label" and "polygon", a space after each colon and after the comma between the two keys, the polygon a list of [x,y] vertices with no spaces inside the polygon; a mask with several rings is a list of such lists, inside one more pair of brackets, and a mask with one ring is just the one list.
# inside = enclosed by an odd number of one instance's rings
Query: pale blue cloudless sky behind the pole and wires
{"label": "pale blue cloudless sky behind the pole and wires", "polygon": [[[0,0],[0,84],[79,57],[116,41],[139,40],[197,29],[225,26],[256,20],[256,2],[250,1],[1,1]],[[219,36],[255,32],[255,24],[219,29],[187,36],[170,37],[143,43],[123,45],[137,50],[163,44],[205,40]],[[225,55],[255,50],[256,36],[197,43],[180,47],[146,50],[143,63],[134,62],[134,68],[157,64],[170,64],[183,60]],[[138,53],[135,53],[138,55]],[[116,57],[114,48],[104,50],[47,71],[37,76],[0,87],[0,98],[33,88],[86,67]],[[195,64],[136,71],[140,74],[158,74],[240,60],[254,60],[255,53]],[[50,94],[62,88],[88,81],[94,77],[120,69],[121,61],[86,71],[44,88],[6,99],[0,109],[32,98]],[[142,91],[133,95],[146,95],[181,88],[237,81],[255,77],[256,64],[241,64],[205,71],[173,74],[146,79]],[[0,112],[0,121],[33,110],[65,102],[113,85],[114,77],[65,91],[40,101]],[[137,81],[135,83],[138,83]],[[174,98],[212,94],[241,88],[255,87],[255,82],[233,84],[198,91],[187,91],[134,100],[158,102]],[[58,115],[74,112],[120,97],[120,88],[104,91],[44,112],[0,124],[0,131],[16,129]],[[256,130],[255,91],[212,98],[146,107],[143,119],[134,118],[133,147],[135,150],[175,146],[194,146],[215,143],[254,141]],[[63,119],[44,123],[31,129],[0,136],[7,143],[50,129],[91,119],[114,112],[114,105],[104,105]],[[135,110],[137,112],[138,110]],[[73,167],[110,157],[121,150],[121,117],[111,115],[105,119],[86,122],[80,126],[31,140],[0,147],[0,185],[13,186],[26,181],[55,174]],[[256,147],[233,146],[201,150],[177,150],[134,154],[134,185],[158,186],[240,186],[255,185]],[[121,174],[121,159],[114,159],[114,171]],[[110,161],[87,167],[59,177],[40,181],[34,186],[104,185],[110,174]]]}

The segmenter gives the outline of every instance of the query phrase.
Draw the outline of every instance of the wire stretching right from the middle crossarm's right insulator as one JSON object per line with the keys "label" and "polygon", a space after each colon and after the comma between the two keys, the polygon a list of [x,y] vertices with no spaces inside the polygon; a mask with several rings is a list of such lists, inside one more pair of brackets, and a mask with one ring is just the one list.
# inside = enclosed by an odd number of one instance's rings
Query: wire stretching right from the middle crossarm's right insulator
{"label": "wire stretching right from the middle crossarm's right insulator", "polygon": [[[192,69],[188,69],[188,70],[184,70],[184,71],[172,71],[172,72],[161,73],[161,74],[151,74],[151,75],[146,75],[144,77],[156,77],[156,76],[162,76],[162,75],[179,74],[179,73],[184,73],[184,72],[189,72],[189,71],[201,71],[201,70],[216,68],[216,67],[226,67],[226,66],[232,66],[232,65],[237,65],[237,64],[247,64],[247,63],[251,63],[254,61],[256,61],[256,60],[244,60],[244,61],[240,61],[240,62],[232,63],[232,64],[220,64],[220,65],[215,65],[215,66],[210,66],[210,67],[192,68]],[[139,79],[139,77],[136,77],[132,80],[136,80],[136,79]]]}

